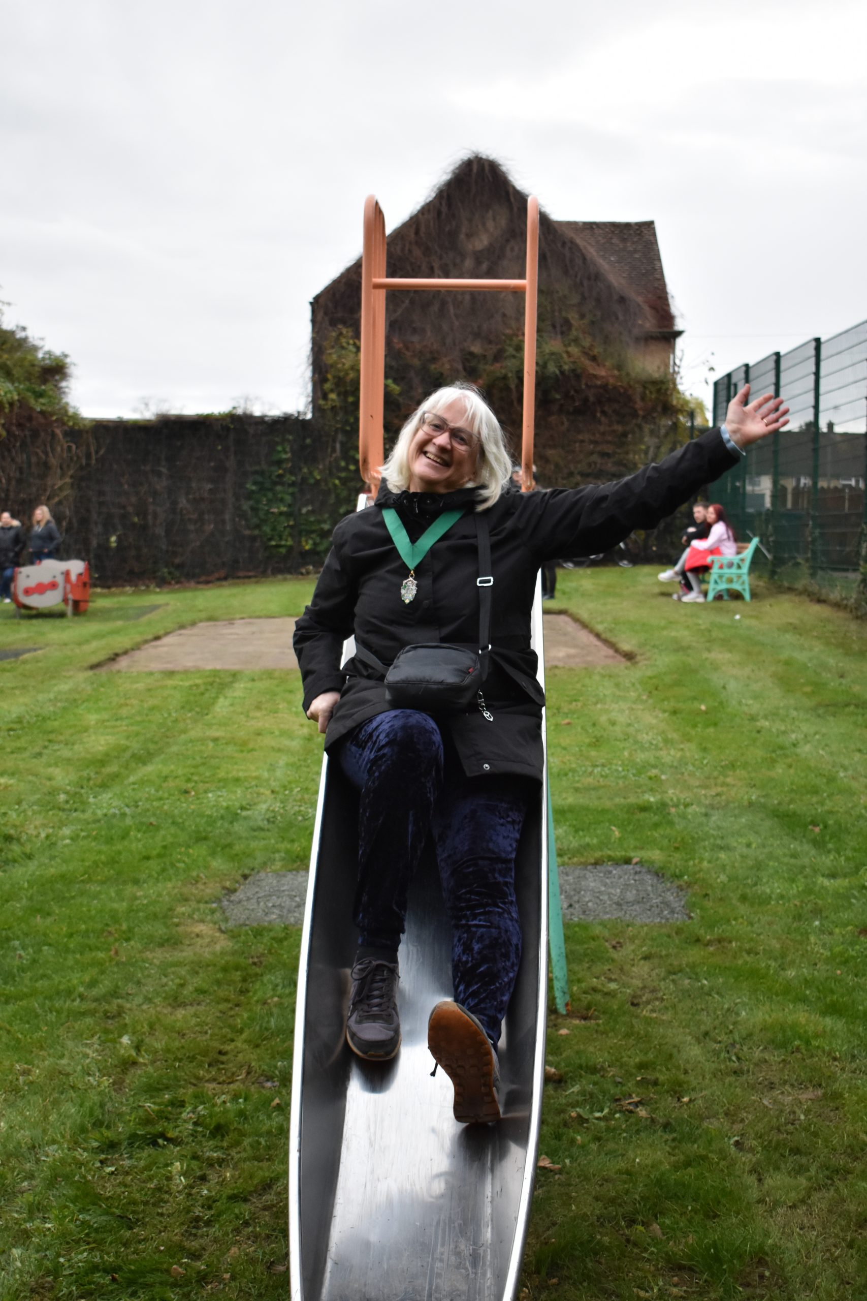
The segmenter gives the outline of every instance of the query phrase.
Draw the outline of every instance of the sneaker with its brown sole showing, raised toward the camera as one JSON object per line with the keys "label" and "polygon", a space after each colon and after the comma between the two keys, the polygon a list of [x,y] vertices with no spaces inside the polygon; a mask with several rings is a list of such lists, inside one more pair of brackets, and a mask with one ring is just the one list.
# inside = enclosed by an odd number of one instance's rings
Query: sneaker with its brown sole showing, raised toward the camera
{"label": "sneaker with its brown sole showing, raised toward the camera", "polygon": [[428,1047],[455,1086],[455,1120],[499,1120],[499,1062],[472,1012],[452,999],[437,1003],[428,1021]]}

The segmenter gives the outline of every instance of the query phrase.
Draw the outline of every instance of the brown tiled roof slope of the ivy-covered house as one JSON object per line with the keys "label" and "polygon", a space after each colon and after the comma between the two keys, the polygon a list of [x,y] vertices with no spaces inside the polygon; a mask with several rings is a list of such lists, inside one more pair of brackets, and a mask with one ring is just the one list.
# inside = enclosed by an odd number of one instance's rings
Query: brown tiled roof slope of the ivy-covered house
{"label": "brown tiled roof slope of the ivy-covered house", "polygon": [[[675,333],[653,221],[556,221],[645,308],[645,330]],[[680,333],[680,332],[677,332]]]}

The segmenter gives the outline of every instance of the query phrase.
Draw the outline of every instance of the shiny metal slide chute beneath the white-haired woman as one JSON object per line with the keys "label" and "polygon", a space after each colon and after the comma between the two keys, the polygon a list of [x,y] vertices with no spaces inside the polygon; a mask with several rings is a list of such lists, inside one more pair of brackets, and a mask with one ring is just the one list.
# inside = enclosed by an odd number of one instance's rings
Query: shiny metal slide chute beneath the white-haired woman
{"label": "shiny metal slide chute beneath the white-haired woman", "polygon": [[[542,600],[533,648],[545,686]],[[542,723],[545,729],[545,721]],[[546,751],[547,753],[547,751]],[[400,946],[403,1043],[363,1062],[343,1029],[357,935],[357,799],[325,758],[302,935],[289,1166],[292,1301],[512,1301],[533,1194],[547,1011],[547,782],[517,852],[524,933],[500,1041],[503,1119],[460,1125],[432,1079],[428,1016],[451,998],[451,934],[435,863],[409,895]]]}

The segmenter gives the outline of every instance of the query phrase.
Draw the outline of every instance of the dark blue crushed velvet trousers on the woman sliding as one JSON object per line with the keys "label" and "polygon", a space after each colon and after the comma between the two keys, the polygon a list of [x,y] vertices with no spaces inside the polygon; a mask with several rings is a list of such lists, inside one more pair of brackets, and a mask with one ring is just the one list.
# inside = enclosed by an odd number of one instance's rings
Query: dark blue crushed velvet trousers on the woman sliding
{"label": "dark blue crushed velvet trousers on the woman sliding", "polygon": [[359,791],[359,943],[396,951],[407,892],[429,837],[452,928],[456,1002],[491,1042],[521,958],[515,855],[533,782],[467,777],[428,714],[393,709],[368,719],[338,751]]}

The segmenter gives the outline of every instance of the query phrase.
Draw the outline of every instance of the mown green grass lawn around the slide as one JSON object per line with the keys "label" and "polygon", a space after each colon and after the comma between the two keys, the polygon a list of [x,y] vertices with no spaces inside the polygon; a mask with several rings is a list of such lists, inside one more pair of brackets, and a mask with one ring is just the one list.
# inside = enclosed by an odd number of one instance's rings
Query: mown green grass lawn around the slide
{"label": "mown green grass lawn around the slide", "polygon": [[[0,608],[0,1297],[287,1294],[298,933],[224,932],[307,866],[321,755],[294,677],[117,674],[311,580]],[[658,866],[693,920],[567,926],[530,1298],[867,1297],[867,624],[562,572],[634,653],[552,670],[560,863]],[[229,605],[229,602],[231,602]],[[142,618],[146,605],[159,605]],[[740,615],[740,619],[734,617]]]}

